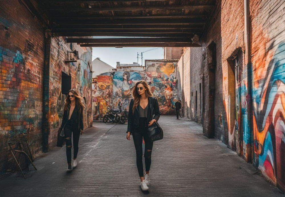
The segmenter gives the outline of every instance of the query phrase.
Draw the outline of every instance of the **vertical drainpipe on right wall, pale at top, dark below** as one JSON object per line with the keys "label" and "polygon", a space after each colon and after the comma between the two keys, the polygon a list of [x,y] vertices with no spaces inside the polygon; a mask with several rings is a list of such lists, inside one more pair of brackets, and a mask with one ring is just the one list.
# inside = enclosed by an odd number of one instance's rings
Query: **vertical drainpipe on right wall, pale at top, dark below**
{"label": "vertical drainpipe on right wall, pale at top, dark below", "polygon": [[[250,97],[247,97],[247,121],[248,124],[250,124],[249,131],[248,128],[246,129],[247,132],[251,132],[251,144],[245,145],[245,151],[247,153],[247,157],[245,157],[245,160],[248,163],[252,162],[252,153],[253,153],[253,122],[252,122],[252,117],[251,117],[251,112],[252,112],[252,92],[251,92],[251,83],[252,83],[252,70],[251,70],[251,58],[250,58],[250,51],[249,51],[249,0],[244,0],[244,11],[245,11],[245,65],[247,65],[247,87],[248,91],[247,93],[250,94]],[[243,120],[244,121],[244,120]],[[247,140],[248,142],[248,140]]]}

